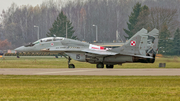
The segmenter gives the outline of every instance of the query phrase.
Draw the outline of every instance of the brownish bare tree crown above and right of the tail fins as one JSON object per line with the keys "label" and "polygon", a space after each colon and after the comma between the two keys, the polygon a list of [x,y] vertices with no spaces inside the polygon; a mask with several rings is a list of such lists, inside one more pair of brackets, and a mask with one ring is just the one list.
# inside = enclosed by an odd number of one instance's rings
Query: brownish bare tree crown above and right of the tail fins
{"label": "brownish bare tree crown above and right of the tail fins", "polygon": [[178,14],[176,9],[154,7],[150,10],[149,24],[151,28],[161,30],[166,24],[170,32],[174,32],[178,26]]}

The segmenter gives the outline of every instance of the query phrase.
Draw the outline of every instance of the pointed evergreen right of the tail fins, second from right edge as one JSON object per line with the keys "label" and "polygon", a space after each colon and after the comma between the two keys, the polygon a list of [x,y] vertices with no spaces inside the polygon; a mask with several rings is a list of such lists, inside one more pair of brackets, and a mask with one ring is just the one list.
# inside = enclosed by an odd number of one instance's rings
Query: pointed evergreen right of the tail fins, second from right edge
{"label": "pointed evergreen right of the tail fins, second from right edge", "polygon": [[166,55],[171,54],[172,44],[172,40],[170,40],[170,32],[167,25],[164,24],[159,34],[159,53]]}

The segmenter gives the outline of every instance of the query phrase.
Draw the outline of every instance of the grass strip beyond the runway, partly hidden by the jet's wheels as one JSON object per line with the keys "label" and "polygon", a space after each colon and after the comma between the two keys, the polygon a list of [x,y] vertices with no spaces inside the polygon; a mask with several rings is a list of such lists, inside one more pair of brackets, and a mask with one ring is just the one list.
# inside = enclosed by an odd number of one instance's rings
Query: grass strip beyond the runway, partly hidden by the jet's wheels
{"label": "grass strip beyond the runway, partly hidden by the jet's wheels", "polygon": [[[76,68],[96,68],[95,64],[87,62],[71,61]],[[157,58],[154,64],[146,63],[125,63],[122,66],[115,65],[115,68],[158,68],[159,63],[166,63],[166,68],[180,68],[179,57]],[[26,56],[21,58],[5,57],[0,59],[0,68],[68,68],[67,59],[54,58],[52,56]]]}

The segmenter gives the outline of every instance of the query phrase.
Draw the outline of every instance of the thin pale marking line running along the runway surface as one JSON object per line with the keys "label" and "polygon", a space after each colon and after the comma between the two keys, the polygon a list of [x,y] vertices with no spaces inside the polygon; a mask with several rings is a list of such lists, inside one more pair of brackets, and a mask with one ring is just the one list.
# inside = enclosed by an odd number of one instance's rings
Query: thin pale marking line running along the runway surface
{"label": "thin pale marking line running along the runway surface", "polygon": [[91,71],[97,71],[98,69],[93,70],[75,70],[75,71],[59,71],[59,72],[42,72],[42,73],[35,73],[35,74],[56,74],[56,73],[76,73],[76,72],[91,72]]}

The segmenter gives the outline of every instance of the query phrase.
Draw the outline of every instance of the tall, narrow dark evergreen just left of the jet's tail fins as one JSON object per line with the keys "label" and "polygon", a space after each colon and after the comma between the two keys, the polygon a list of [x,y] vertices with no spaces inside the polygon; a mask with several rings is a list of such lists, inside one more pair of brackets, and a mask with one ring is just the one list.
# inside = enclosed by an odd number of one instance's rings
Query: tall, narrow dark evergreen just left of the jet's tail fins
{"label": "tall, narrow dark evergreen just left of the jet's tail fins", "polygon": [[133,33],[133,30],[135,28],[135,25],[138,22],[138,16],[141,12],[141,4],[138,2],[136,5],[133,7],[133,12],[131,12],[131,15],[129,16],[129,22],[127,22],[128,29],[123,29],[126,34],[129,35],[129,38],[131,38],[135,33]]}

